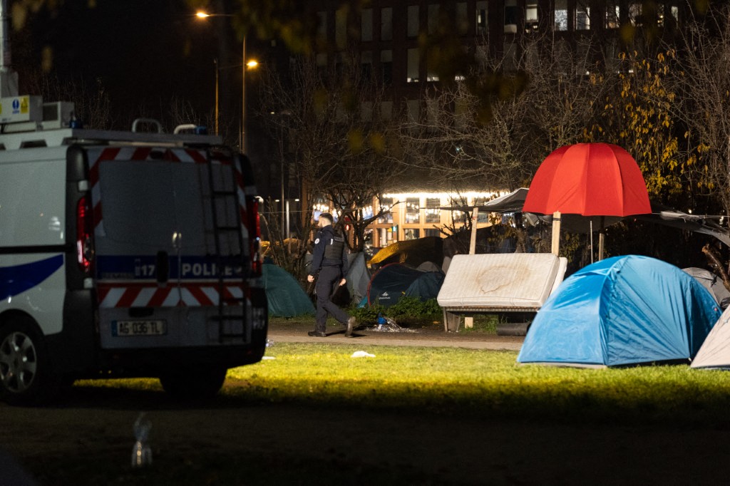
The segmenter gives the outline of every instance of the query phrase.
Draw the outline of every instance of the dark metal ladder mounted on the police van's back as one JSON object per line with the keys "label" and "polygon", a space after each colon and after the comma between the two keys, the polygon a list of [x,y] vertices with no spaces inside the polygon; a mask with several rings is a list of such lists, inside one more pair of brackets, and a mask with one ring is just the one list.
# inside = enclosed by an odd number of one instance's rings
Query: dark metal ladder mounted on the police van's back
{"label": "dark metal ladder mounted on the police van's back", "polygon": [[[231,154],[230,164],[216,164],[220,166],[219,183],[223,187],[218,187],[215,180],[215,172],[213,171],[212,155],[210,150],[207,151],[208,166],[208,182],[210,185],[210,209],[212,212],[212,235],[215,242],[215,268],[218,275],[218,313],[210,317],[211,320],[218,321],[218,342],[223,343],[225,339],[243,339],[244,342],[250,341],[250,329],[246,325],[246,296],[245,296],[245,268],[243,265],[244,241],[241,228],[241,220],[239,217],[239,199],[236,186],[236,168],[235,156]],[[225,168],[228,167],[226,173]],[[231,209],[232,208],[232,209]],[[223,215],[227,215],[231,210],[234,211],[234,223],[228,221],[220,221],[218,210],[222,210]],[[221,240],[226,236],[235,235],[234,241],[238,242],[239,252],[235,252],[233,248],[231,255],[224,256],[222,252]],[[231,238],[226,240],[230,246]],[[234,257],[238,257],[237,260]],[[233,267],[234,269],[241,267],[241,291],[240,297],[226,298],[226,280],[225,269]],[[230,280],[229,280],[230,282]],[[228,304],[228,306],[226,306]],[[232,311],[240,309],[240,313],[226,314],[225,309]],[[234,327],[236,323],[241,325],[241,332],[230,332],[226,330],[226,323]]]}

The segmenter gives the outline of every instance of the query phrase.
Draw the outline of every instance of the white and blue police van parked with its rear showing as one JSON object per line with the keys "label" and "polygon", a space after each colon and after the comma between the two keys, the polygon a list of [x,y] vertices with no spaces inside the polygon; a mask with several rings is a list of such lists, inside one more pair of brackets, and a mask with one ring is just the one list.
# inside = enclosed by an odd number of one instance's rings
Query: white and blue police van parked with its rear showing
{"label": "white and blue police van parked with its rear showing", "polygon": [[266,347],[249,162],[191,127],[75,128],[73,109],[0,99],[0,398],[110,377],[212,396]]}

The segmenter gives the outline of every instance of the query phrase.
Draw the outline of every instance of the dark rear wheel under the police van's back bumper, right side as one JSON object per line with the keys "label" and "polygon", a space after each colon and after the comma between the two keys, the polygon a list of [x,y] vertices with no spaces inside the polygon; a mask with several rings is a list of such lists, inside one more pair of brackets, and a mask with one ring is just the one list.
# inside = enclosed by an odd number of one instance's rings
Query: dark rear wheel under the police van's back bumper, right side
{"label": "dark rear wheel under the police van's back bumper, right side", "polygon": [[179,400],[212,398],[226,381],[227,368],[221,366],[180,367],[160,375],[162,388]]}

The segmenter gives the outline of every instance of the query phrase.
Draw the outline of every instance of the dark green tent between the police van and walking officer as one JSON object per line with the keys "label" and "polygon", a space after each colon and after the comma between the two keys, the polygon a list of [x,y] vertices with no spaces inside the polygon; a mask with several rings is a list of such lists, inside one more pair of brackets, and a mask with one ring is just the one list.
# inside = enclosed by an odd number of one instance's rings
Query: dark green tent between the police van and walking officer
{"label": "dark green tent between the police van and walking officer", "polygon": [[288,271],[271,263],[264,263],[263,268],[262,279],[269,301],[269,316],[314,315],[315,306]]}

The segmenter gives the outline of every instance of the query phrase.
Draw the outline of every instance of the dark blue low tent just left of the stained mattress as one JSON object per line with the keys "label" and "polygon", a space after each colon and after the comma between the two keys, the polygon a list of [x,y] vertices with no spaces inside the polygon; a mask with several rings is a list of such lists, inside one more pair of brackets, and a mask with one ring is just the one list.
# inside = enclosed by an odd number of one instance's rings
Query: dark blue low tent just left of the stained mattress
{"label": "dark blue low tent just left of the stained mattress", "polygon": [[404,296],[427,301],[439,295],[443,282],[444,274],[440,271],[419,271],[401,263],[390,263],[370,279],[367,303],[390,307]]}

